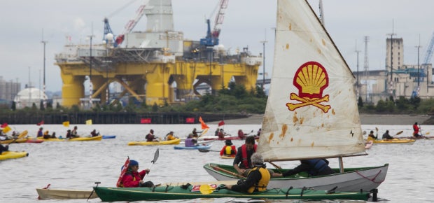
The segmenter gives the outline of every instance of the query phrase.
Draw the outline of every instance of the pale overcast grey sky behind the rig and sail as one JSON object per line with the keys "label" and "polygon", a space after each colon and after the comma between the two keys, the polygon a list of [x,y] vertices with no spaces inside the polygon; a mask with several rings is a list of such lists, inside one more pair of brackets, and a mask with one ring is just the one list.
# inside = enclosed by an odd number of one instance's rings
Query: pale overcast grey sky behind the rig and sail
{"label": "pale overcast grey sky behind the rig and sail", "polygon": [[[199,40],[206,35],[205,19],[214,25],[219,0],[172,0],[174,29],[183,31],[184,38]],[[318,15],[318,1],[308,0]],[[120,34],[143,0],[3,0],[0,6],[0,76],[3,80],[35,87],[43,84],[43,43],[45,46],[46,90],[62,90],[60,69],[55,65],[55,54],[62,52],[66,36],[73,43],[89,43],[87,36],[94,34],[93,43],[102,41],[104,18],[109,18],[114,34]],[[265,73],[272,72],[276,0],[230,0],[225,10],[220,43],[234,51],[248,47],[253,55],[262,52],[265,44]],[[365,58],[364,36],[369,36],[367,57],[369,69],[385,69],[386,38],[403,38],[404,63],[417,64],[425,57],[426,48],[434,31],[434,1],[431,0],[323,0],[325,28],[346,59],[356,71]],[[214,15],[213,15],[214,13]],[[133,31],[144,31],[146,16]],[[262,72],[262,66],[260,67]],[[260,77],[262,78],[262,77]],[[85,85],[87,87],[87,85]]]}

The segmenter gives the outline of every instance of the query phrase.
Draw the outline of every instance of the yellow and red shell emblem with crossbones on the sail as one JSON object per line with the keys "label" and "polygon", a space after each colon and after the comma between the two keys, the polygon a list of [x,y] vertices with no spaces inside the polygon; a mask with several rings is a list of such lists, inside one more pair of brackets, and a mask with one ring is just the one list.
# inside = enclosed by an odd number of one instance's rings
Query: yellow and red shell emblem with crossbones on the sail
{"label": "yellow and red shell emblem with crossbones on the sail", "polygon": [[299,95],[290,93],[290,99],[301,103],[286,103],[288,109],[293,111],[303,106],[316,106],[324,113],[331,108],[330,105],[323,105],[321,102],[328,102],[328,94],[322,97],[323,90],[328,87],[328,75],[324,67],[318,62],[307,62],[302,64],[297,72],[293,84],[299,90]]}

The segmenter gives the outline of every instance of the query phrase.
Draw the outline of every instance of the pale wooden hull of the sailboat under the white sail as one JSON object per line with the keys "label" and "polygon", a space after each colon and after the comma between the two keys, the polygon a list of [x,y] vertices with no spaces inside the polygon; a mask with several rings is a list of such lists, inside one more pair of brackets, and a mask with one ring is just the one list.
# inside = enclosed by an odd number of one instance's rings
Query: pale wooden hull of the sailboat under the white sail
{"label": "pale wooden hull of the sailboat under the white sail", "polygon": [[[204,169],[218,181],[233,181],[239,179],[234,175],[234,167],[229,165],[218,165],[209,163],[204,165]],[[337,173],[328,176],[307,177],[307,174],[296,174],[295,176],[279,177],[270,179],[269,188],[293,188],[311,187],[316,190],[337,191],[370,191],[386,179],[388,164],[380,167],[348,168],[340,174],[339,169],[334,169]],[[277,169],[273,169],[275,172]],[[286,169],[281,169],[285,171]]]}

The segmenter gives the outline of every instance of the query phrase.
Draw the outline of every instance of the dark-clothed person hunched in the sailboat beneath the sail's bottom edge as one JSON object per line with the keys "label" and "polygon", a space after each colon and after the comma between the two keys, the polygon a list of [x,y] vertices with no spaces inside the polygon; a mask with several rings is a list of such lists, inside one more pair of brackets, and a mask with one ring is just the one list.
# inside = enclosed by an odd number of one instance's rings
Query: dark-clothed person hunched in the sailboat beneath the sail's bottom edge
{"label": "dark-clothed person hunched in the sailboat beneath the sail's bottom edge", "polygon": [[274,173],[272,176],[292,176],[300,172],[307,172],[309,176],[325,176],[329,174],[334,174],[333,170],[328,166],[328,160],[325,159],[312,159],[312,160],[300,160],[301,164],[290,169],[283,174]]}

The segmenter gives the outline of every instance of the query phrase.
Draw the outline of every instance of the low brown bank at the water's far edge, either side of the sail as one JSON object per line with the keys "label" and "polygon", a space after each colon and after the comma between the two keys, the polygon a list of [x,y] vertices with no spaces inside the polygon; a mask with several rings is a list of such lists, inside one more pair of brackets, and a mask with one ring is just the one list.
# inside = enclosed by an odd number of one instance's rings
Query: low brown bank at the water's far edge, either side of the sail
{"label": "low brown bank at the water's far edge, either side of the sail", "polygon": [[[248,125],[262,124],[262,114],[253,114],[248,118],[239,118],[225,120],[225,124],[230,125]],[[360,114],[360,123],[362,125],[413,125],[415,122],[423,124],[430,119],[428,115],[396,115],[396,114]],[[220,121],[209,122],[209,124],[218,124]]]}

